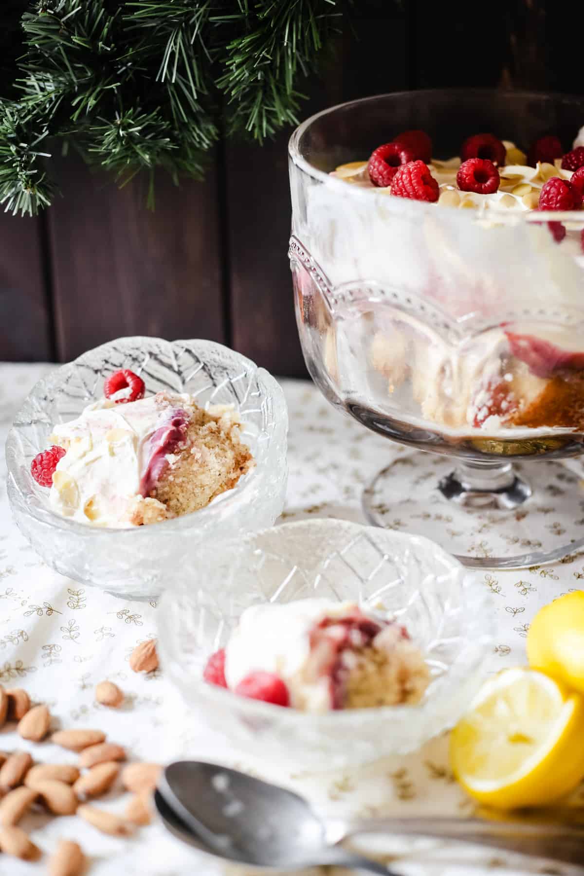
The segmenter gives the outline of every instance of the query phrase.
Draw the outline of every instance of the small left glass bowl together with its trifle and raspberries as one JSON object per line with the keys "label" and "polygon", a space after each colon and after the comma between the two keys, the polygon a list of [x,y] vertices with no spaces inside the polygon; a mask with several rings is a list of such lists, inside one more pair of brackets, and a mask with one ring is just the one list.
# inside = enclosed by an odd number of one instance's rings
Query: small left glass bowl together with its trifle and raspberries
{"label": "small left glass bowl together with its trifle and raspberries", "polygon": [[271,526],[286,432],[283,392],[250,359],[119,338],[25,399],[6,444],[12,512],[56,571],[150,598],[201,540]]}

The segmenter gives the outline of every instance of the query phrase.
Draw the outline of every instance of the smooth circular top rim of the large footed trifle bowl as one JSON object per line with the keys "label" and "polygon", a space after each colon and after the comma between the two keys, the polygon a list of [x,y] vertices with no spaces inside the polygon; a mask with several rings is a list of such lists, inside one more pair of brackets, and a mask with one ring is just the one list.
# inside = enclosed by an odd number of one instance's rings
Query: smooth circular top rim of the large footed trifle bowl
{"label": "smooth circular top rim of the large footed trifle bowl", "polygon": [[[338,191],[340,194],[344,194],[345,197],[350,198],[369,198],[376,199],[379,202],[379,199],[383,198],[383,207],[386,208],[391,213],[396,213],[401,215],[410,216],[412,219],[419,219],[420,215],[430,213],[435,213],[435,210],[440,210],[441,213],[447,213],[454,222],[467,223],[468,215],[467,211],[456,211],[452,207],[444,207],[440,206],[440,204],[434,203],[426,203],[426,201],[412,201],[408,198],[398,198],[392,199],[387,193],[384,192],[371,192],[369,189],[363,189],[359,186],[348,186],[346,182],[343,180],[337,180],[334,177],[330,176],[329,173],[325,171],[319,170],[317,167],[311,165],[309,161],[307,161],[302,153],[299,150],[299,140],[305,131],[310,127],[313,122],[317,119],[328,116],[338,109],[347,109],[348,107],[354,106],[357,103],[366,103],[369,101],[376,101],[383,97],[398,97],[402,95],[427,95],[429,98],[435,94],[451,94],[456,95],[457,93],[475,91],[477,94],[488,95],[496,91],[495,88],[419,88],[417,90],[412,91],[388,91],[384,92],[381,95],[370,95],[369,97],[362,97],[359,100],[355,101],[347,101],[344,103],[337,103],[333,107],[327,107],[327,109],[321,109],[320,112],[314,113],[313,116],[307,118],[304,122],[299,124],[298,128],[292,131],[292,135],[288,141],[288,154],[290,159],[294,165],[299,167],[299,170],[302,173],[306,173],[308,176],[311,176],[313,180],[318,180],[319,182],[325,183],[328,187],[332,187],[334,190]],[[542,97],[548,96],[552,93],[546,93],[545,91],[521,91],[521,92],[513,92],[514,95],[522,94],[525,95],[526,98],[531,97]],[[584,96],[582,95],[566,95],[566,94],[557,94],[553,93],[553,96],[566,101],[575,101],[579,102],[584,106]],[[534,215],[537,212],[537,218]],[[468,213],[471,213],[469,210]],[[472,215],[474,215],[475,211],[472,211]],[[577,222],[581,223],[582,228],[584,228],[584,208],[581,210],[565,210],[565,211],[552,211],[552,210],[496,210],[493,211],[496,215],[496,222],[507,225],[510,228],[513,228],[517,225],[526,223],[539,223],[542,221],[547,222]],[[490,214],[493,216],[493,213]],[[530,218],[531,217],[531,218]],[[482,217],[481,217],[482,218]],[[493,221],[495,218],[493,217]]]}

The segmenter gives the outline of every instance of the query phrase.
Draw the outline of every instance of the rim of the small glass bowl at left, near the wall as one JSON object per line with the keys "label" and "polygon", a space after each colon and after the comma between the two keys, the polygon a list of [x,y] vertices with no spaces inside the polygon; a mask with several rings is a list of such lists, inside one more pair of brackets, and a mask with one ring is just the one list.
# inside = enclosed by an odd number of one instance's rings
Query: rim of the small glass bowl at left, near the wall
{"label": "rim of the small glass bowl at left, near the wall", "polygon": [[[67,364],[60,365],[60,367],[55,368],[53,371],[50,371],[49,374],[46,375],[45,378],[41,378],[33,387],[31,392],[26,396],[25,402],[30,399],[30,397],[39,391],[39,388],[42,388],[46,385],[52,384],[58,375],[62,375],[67,371],[74,370],[76,364],[80,363],[85,357],[95,356],[101,350],[106,350],[111,343],[120,343],[120,341],[144,341],[144,342],[162,342],[162,343],[184,343],[184,344],[193,344],[197,343],[202,347],[207,347],[209,350],[229,350],[229,353],[236,357],[242,365],[246,368],[250,368],[253,371],[257,372],[259,378],[262,379],[266,389],[270,392],[271,396],[282,396],[282,388],[278,384],[276,378],[273,378],[269,371],[266,371],[264,368],[260,368],[248,357],[242,356],[240,353],[237,353],[235,350],[230,350],[228,347],[225,347],[221,343],[215,343],[215,341],[207,341],[207,340],[199,340],[197,338],[190,339],[180,339],[177,341],[165,341],[164,338],[158,338],[153,336],[127,336],[123,338],[118,338],[116,341],[110,341],[107,343],[102,343],[98,347],[94,347],[92,350],[87,350],[85,353],[82,353],[81,356],[78,356],[72,362],[68,362]],[[124,527],[112,527],[112,526],[90,526],[89,524],[78,523],[76,520],[69,520],[66,517],[61,517],[57,512],[51,511],[49,508],[42,507],[32,507],[27,499],[27,494],[25,493],[25,484],[22,484],[21,478],[19,477],[19,469],[21,468],[21,464],[18,463],[18,450],[16,449],[16,429],[18,428],[18,417],[22,407],[18,410],[18,413],[14,420],[12,421],[11,429],[8,434],[8,438],[6,439],[6,463],[9,472],[9,491],[11,489],[15,490],[17,493],[18,501],[21,505],[24,506],[26,511],[35,519],[39,521],[39,523],[44,524],[48,527],[56,527],[58,529],[63,529],[66,532],[75,533],[76,535],[85,536],[87,538],[112,538],[112,537],[123,537],[124,535],[127,537],[128,533],[132,533],[134,538],[145,538],[152,536],[152,527],[151,526],[124,526]],[[242,478],[241,486],[237,484],[237,486],[233,489],[233,491],[229,491],[227,495],[220,496],[216,498],[210,505],[206,505],[206,507],[201,508],[199,511],[192,512],[190,514],[185,514],[182,517],[178,517],[172,520],[162,520],[156,524],[156,531],[160,532],[161,527],[164,527],[165,533],[176,532],[179,529],[193,529],[198,528],[198,526],[210,517],[213,518],[216,516],[216,509],[221,507],[222,510],[229,508],[229,510],[233,509],[234,505],[245,505],[247,492],[250,489],[253,489],[257,484],[258,480],[263,479],[264,472],[258,466],[254,467],[247,475],[244,475]]]}

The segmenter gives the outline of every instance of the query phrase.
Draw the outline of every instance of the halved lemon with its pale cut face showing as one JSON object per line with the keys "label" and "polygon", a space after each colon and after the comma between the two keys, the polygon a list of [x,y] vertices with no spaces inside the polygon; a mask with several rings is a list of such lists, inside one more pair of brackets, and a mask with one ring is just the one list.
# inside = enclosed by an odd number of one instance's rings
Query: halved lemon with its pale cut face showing
{"label": "halved lemon with its pale cut face showing", "polygon": [[584,777],[584,696],[533,669],[486,682],[450,740],[454,775],[497,809],[543,806]]}

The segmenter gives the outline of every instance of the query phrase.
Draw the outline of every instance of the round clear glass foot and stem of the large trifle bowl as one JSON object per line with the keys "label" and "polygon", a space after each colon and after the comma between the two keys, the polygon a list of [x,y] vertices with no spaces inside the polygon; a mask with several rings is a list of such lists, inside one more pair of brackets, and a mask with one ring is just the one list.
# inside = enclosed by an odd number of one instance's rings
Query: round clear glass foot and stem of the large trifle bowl
{"label": "round clear glass foot and stem of the large trifle bowl", "polygon": [[521,569],[584,547],[584,490],[562,463],[461,463],[402,452],[363,491],[373,526],[426,535],[465,566]]}

